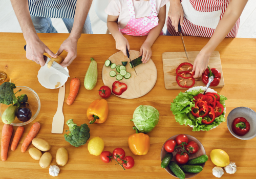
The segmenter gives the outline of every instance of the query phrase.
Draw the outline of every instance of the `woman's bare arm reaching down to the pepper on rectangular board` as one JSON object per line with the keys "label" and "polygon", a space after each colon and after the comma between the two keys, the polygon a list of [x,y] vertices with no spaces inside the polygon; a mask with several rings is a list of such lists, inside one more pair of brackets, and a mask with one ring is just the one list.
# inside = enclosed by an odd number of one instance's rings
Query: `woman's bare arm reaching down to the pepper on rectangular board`
{"label": "woman's bare arm reaching down to the pepper on rectangular board", "polygon": [[222,19],[220,20],[214,34],[211,36],[208,43],[197,55],[193,72],[194,78],[201,77],[204,70],[207,68],[209,58],[212,52],[220,44],[220,42],[227,36],[233,26],[236,24],[238,18],[243,12],[243,9],[248,0],[230,0]]}

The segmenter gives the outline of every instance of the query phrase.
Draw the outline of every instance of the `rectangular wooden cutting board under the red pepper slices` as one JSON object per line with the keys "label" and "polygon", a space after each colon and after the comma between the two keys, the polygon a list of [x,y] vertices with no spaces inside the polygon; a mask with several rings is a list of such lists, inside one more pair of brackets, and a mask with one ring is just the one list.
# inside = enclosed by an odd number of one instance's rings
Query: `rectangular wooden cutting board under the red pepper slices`
{"label": "rectangular wooden cutting board under the red pepper slices", "polygon": [[[196,59],[198,52],[187,52],[187,56],[189,58],[189,63],[194,64],[194,60]],[[163,73],[164,73],[164,85],[166,89],[184,89],[180,87],[176,81],[176,69],[178,68],[180,63],[187,62],[185,52],[165,52],[162,54],[163,58]],[[221,80],[218,86],[212,87],[223,87],[224,79],[221,67],[221,58],[220,53],[218,51],[214,51],[209,60],[210,68],[218,69],[221,72]],[[194,86],[206,86],[202,78],[195,79],[196,82]]]}

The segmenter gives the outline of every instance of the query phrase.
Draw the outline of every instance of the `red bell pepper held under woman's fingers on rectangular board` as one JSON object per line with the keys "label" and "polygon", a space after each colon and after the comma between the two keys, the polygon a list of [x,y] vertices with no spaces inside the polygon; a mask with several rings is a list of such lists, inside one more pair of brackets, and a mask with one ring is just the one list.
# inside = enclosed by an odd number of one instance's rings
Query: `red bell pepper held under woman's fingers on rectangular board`
{"label": "red bell pepper held under woman's fingers on rectangular board", "polygon": [[202,74],[202,81],[206,85],[209,81],[209,77],[214,76],[214,81],[210,83],[210,86],[218,86],[221,80],[221,73],[217,69],[210,69],[208,68]]}

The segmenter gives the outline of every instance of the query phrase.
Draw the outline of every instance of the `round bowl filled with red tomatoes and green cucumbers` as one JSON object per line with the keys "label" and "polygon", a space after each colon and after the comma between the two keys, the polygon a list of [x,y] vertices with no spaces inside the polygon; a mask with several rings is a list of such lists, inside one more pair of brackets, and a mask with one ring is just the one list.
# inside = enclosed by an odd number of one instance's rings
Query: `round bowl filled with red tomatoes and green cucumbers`
{"label": "round bowl filled with red tomatoes and green cucumbers", "polygon": [[161,167],[179,178],[196,176],[203,170],[207,160],[202,143],[190,135],[170,137],[161,150]]}

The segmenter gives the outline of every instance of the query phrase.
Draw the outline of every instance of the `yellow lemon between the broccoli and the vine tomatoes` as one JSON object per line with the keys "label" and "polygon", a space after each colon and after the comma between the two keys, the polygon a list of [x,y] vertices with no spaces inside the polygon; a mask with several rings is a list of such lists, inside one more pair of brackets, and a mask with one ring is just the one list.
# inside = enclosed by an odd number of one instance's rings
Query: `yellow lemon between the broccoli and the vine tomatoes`
{"label": "yellow lemon between the broccoli and the vine tomatoes", "polygon": [[100,155],[104,149],[104,141],[100,137],[92,138],[88,143],[88,150],[92,155]]}

